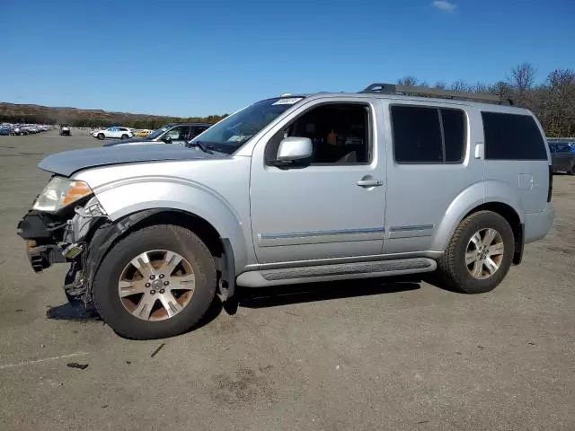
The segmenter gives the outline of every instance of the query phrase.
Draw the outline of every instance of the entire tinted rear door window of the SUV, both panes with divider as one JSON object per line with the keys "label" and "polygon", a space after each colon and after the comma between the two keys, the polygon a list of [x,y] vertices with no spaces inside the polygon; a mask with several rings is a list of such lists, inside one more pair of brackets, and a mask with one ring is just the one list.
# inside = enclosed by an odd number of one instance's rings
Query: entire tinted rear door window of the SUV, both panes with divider
{"label": "entire tinted rear door window of the SUV, both panes with divider", "polygon": [[464,157],[463,110],[391,107],[397,163],[460,163]]}

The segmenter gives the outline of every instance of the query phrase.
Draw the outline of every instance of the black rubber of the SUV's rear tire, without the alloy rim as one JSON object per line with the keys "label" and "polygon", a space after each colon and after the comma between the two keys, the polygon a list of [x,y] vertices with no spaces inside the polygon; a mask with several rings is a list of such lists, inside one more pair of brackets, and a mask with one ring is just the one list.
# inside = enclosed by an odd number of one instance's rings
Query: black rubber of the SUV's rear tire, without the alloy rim
{"label": "black rubber of the SUV's rear tire, without the alloy rim", "polygon": [[[500,233],[503,253],[499,268],[488,278],[473,277],[465,265],[465,252],[474,233],[492,228]],[[483,294],[499,286],[507,276],[513,253],[515,238],[507,220],[491,211],[479,211],[465,218],[456,228],[443,257],[438,259],[438,276],[448,286],[465,294]]]}

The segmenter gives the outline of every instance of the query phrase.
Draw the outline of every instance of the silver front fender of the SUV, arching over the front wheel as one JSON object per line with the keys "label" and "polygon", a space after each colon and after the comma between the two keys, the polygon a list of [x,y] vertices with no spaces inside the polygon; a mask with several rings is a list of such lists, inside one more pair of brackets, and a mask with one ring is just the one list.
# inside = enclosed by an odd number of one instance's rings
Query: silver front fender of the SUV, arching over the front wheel
{"label": "silver front fender of the SUV, arching over the front wheel", "polygon": [[[100,149],[103,152],[111,150]],[[157,208],[177,209],[203,218],[222,238],[231,242],[239,273],[255,262],[250,224],[251,160],[241,156],[202,156],[199,154],[204,153],[199,150],[184,150],[197,157],[189,156],[169,164],[160,160],[88,169],[73,178],[90,184],[112,221]],[[163,152],[173,153],[168,148]],[[146,151],[142,151],[144,153]],[[190,163],[192,160],[196,163]],[[234,180],[230,181],[232,177]]]}

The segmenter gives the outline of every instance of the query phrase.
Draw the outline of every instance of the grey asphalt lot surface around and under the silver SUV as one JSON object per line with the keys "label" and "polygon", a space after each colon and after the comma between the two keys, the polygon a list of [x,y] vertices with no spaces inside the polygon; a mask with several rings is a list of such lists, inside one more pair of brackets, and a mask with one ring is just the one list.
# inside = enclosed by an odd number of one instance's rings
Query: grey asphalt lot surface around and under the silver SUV
{"label": "grey asphalt lot surface around and under the silver SUV", "polygon": [[16,235],[49,180],[37,163],[98,145],[0,136],[1,430],[575,429],[575,177],[555,175],[553,231],[489,294],[242,290],[234,315],[215,303],[197,330],[130,341],[67,306],[66,268],[35,274]]}

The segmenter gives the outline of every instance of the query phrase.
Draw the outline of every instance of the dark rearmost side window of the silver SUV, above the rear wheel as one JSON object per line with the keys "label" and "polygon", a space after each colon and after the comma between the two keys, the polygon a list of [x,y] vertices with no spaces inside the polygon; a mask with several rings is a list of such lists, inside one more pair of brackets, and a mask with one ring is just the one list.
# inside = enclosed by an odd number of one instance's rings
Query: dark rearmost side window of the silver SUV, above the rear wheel
{"label": "dark rearmost side window of the silver SUV, above the rear wheel", "polygon": [[530,115],[482,112],[487,160],[547,160],[543,136]]}

